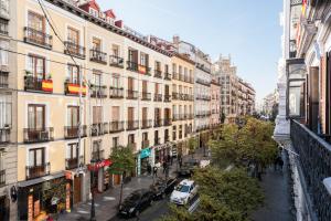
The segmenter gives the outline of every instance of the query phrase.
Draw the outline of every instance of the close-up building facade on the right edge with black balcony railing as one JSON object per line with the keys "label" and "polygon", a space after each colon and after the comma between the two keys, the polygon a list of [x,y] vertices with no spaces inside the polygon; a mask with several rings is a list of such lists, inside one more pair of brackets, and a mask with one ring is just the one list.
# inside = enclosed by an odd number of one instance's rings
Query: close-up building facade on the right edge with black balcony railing
{"label": "close-up building facade on the right edge with black balcony railing", "polygon": [[330,12],[329,1],[284,0],[274,137],[289,155],[298,220],[331,219]]}

